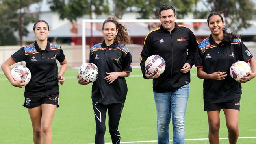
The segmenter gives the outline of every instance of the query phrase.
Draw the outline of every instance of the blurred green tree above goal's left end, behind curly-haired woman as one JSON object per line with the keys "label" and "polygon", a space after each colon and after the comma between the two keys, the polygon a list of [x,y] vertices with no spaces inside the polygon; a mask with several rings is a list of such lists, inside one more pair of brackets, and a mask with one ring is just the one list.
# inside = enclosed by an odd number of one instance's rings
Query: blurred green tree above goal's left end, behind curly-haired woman
{"label": "blurred green tree above goal's left end, behind curly-haired woman", "polygon": [[67,18],[70,22],[76,22],[77,18],[91,13],[97,15],[109,13],[107,0],[48,0],[50,9],[59,13],[59,18]]}

